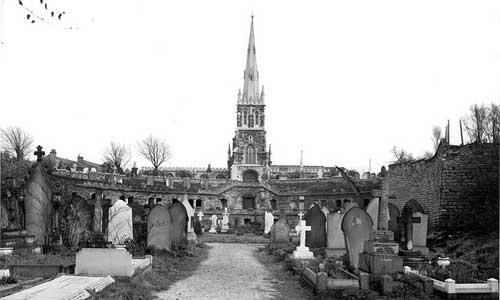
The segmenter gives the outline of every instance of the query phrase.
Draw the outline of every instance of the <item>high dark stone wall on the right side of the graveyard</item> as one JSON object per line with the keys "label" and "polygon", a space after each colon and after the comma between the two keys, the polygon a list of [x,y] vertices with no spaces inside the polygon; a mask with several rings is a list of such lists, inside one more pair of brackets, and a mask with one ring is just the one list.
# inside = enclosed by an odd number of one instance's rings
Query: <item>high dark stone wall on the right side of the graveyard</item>
{"label": "high dark stone wall on the right side of the graveyard", "polygon": [[434,157],[389,166],[383,197],[400,210],[418,201],[432,226],[457,228],[497,224],[498,144],[448,145]]}

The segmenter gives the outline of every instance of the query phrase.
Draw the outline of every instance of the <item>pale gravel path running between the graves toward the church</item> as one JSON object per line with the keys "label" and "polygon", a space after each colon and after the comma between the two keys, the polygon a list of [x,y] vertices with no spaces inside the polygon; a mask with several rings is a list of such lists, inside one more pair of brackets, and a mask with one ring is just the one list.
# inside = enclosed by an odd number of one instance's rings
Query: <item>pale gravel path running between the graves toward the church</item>
{"label": "pale gravel path running between the graves toward the church", "polygon": [[276,299],[272,275],[254,257],[262,245],[210,243],[208,259],[176,282],[161,299]]}

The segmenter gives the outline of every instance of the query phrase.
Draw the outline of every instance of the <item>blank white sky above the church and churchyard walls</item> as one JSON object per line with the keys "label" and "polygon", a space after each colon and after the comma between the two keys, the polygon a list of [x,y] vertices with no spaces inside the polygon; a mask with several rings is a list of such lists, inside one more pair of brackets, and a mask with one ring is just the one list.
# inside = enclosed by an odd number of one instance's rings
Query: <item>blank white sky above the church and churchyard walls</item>
{"label": "blank white sky above the church and churchyard walls", "polygon": [[0,0],[0,126],[65,158],[100,163],[116,141],[145,166],[151,133],[171,145],[165,166],[226,167],[252,12],[274,164],[303,150],[376,172],[394,145],[431,150],[448,119],[459,143],[469,106],[500,102],[497,0],[45,1],[63,22]]}

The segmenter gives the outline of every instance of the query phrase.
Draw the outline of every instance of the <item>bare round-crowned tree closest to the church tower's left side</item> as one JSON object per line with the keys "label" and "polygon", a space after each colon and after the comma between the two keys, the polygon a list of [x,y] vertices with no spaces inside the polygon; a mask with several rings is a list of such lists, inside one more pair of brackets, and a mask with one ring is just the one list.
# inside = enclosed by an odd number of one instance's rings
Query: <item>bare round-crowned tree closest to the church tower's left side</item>
{"label": "bare round-crowned tree closest to the church tower's left side", "polygon": [[152,135],[140,141],[137,148],[139,153],[153,165],[153,175],[158,175],[158,168],[172,156],[167,142]]}

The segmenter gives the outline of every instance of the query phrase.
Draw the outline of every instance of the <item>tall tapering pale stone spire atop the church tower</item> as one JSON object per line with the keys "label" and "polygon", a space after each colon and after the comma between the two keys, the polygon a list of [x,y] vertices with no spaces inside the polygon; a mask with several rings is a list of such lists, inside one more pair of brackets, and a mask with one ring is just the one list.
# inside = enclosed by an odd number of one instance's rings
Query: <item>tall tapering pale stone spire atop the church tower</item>
{"label": "tall tapering pale stone spire atop the church tower", "polygon": [[259,93],[259,71],[255,52],[255,35],[253,32],[253,15],[248,39],[247,64],[243,75],[243,94],[238,97],[238,104],[263,104]]}

